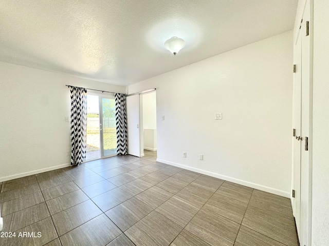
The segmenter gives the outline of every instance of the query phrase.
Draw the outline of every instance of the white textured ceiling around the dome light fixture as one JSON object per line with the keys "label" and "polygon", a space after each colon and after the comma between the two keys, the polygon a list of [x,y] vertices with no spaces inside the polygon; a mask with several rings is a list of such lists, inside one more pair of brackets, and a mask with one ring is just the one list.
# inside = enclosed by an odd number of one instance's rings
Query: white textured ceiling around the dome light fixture
{"label": "white textured ceiling around the dome light fixture", "polygon": [[[292,30],[297,0],[1,0],[0,60],[131,85]],[[176,56],[163,47],[186,40]]]}

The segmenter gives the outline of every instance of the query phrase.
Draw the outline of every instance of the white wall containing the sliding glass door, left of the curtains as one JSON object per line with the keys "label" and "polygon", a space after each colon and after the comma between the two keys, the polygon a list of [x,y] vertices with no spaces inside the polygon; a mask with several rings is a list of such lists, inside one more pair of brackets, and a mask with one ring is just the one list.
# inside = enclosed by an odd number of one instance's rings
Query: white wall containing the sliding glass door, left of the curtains
{"label": "white wall containing the sliding glass door, left of the curtains", "polygon": [[0,62],[0,181],[69,165],[65,85],[125,93],[125,87]]}

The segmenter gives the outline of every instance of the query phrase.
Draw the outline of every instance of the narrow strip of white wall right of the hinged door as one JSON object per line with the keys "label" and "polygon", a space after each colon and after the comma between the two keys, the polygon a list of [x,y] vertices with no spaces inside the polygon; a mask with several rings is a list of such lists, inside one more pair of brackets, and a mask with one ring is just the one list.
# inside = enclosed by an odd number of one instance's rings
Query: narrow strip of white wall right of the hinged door
{"label": "narrow strip of white wall right of the hinged door", "polygon": [[312,245],[329,242],[329,2],[314,1]]}

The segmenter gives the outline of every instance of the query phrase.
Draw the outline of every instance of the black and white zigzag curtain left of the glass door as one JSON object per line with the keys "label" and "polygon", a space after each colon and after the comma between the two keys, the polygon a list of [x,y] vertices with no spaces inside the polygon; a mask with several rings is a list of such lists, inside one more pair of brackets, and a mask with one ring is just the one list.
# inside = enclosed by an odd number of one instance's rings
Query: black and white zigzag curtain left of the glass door
{"label": "black and white zigzag curtain left of the glass door", "polygon": [[87,89],[69,86],[71,91],[71,166],[86,159]]}

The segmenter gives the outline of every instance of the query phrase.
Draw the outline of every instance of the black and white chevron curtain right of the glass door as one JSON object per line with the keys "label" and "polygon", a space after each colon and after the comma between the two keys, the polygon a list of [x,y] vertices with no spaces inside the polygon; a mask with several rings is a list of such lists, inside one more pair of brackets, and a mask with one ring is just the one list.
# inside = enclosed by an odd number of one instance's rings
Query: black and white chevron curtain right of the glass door
{"label": "black and white chevron curtain right of the glass door", "polygon": [[115,121],[117,126],[117,154],[126,155],[127,151],[127,121],[125,113],[126,94],[114,93]]}

